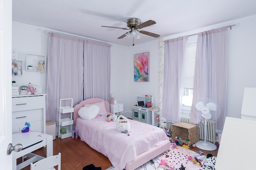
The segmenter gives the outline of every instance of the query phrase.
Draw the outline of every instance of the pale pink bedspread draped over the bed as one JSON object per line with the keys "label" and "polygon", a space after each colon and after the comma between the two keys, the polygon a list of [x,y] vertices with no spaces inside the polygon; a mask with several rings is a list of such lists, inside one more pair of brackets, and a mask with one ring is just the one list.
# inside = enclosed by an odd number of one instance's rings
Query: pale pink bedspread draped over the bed
{"label": "pale pink bedspread draped over the bed", "polygon": [[161,128],[133,120],[129,122],[132,132],[130,136],[117,131],[117,122],[107,122],[106,115],[97,116],[93,120],[79,117],[76,119],[76,129],[79,129],[82,141],[108,157],[114,170],[123,170],[126,163],[134,160],[137,155],[169,140]]}

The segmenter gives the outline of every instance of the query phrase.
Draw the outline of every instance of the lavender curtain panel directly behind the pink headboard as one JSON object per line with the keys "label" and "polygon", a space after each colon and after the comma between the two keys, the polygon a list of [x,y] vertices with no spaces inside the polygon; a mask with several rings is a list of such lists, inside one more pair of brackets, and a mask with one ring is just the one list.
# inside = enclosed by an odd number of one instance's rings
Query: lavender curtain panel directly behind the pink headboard
{"label": "lavender curtain panel directly behind the pink headboard", "polygon": [[84,41],[84,99],[110,100],[110,46]]}

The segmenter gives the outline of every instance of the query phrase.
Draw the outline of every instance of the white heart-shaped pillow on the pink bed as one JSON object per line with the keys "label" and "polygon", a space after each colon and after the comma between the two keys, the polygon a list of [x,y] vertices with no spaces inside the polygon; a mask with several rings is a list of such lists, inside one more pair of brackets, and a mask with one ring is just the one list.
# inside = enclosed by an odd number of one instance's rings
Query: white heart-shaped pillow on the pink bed
{"label": "white heart-shaped pillow on the pink bed", "polygon": [[89,107],[81,107],[78,111],[78,115],[82,119],[91,120],[94,119],[100,111],[100,107],[97,105],[90,105]]}

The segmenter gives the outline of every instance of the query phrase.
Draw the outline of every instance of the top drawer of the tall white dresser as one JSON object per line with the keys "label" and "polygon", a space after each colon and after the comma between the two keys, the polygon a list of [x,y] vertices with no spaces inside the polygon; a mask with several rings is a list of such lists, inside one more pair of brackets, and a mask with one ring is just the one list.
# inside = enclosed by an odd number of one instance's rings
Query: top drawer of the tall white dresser
{"label": "top drawer of the tall white dresser", "polygon": [[12,111],[26,111],[44,107],[44,96],[13,97]]}

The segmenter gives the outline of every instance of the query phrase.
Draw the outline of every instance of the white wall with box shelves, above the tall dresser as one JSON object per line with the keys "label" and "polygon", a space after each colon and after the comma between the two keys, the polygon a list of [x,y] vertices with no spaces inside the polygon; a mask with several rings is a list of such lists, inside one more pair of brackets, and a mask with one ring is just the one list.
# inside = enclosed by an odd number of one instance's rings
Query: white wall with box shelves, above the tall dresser
{"label": "white wall with box shelves, above the tall dresser", "polygon": [[16,81],[18,86],[27,86],[30,82],[35,86],[42,86],[42,92],[46,93],[46,72],[26,71],[26,53],[46,55],[47,64],[48,34],[37,28],[13,22],[12,49],[16,51],[16,59],[23,60],[22,76],[13,75],[12,80]]}

